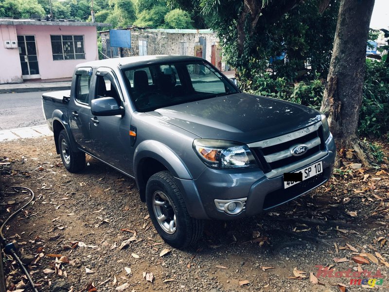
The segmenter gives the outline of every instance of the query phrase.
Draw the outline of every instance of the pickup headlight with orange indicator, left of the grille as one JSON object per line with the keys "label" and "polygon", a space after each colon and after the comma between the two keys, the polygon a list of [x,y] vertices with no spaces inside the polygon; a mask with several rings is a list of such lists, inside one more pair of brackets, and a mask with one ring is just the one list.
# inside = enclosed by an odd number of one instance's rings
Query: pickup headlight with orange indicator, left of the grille
{"label": "pickup headlight with orange indicator, left of the grille", "polygon": [[193,148],[201,160],[213,168],[256,166],[247,145],[213,139],[195,139]]}

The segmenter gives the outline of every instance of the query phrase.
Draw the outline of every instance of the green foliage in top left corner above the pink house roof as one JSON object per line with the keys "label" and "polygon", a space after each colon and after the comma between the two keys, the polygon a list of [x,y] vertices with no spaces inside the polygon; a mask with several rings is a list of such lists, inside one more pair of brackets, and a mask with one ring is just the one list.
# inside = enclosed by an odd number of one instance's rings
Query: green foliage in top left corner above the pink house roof
{"label": "green foliage in top left corner above the pink house roof", "polygon": [[37,0],[0,1],[0,17],[30,18],[33,14],[45,15],[43,7]]}

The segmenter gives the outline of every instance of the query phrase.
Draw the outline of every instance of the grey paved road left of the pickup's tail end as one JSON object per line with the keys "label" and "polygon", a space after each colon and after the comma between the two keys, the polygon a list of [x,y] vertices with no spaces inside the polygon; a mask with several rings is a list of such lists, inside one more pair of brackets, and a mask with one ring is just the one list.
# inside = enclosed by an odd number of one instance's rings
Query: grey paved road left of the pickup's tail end
{"label": "grey paved road left of the pickup's tail end", "polygon": [[40,92],[0,94],[0,130],[45,124]]}

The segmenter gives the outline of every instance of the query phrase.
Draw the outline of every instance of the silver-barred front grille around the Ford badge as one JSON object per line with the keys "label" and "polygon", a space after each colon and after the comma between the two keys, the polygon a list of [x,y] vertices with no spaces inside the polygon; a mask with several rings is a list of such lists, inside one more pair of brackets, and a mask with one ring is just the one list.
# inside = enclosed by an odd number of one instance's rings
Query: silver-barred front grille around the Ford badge
{"label": "silver-barred front grille around the Ford badge", "polygon": [[[301,144],[307,145],[308,150],[301,156],[293,156],[291,150]],[[268,178],[294,171],[327,154],[321,122],[290,134],[251,143],[248,146]],[[300,165],[300,162],[306,164]]]}

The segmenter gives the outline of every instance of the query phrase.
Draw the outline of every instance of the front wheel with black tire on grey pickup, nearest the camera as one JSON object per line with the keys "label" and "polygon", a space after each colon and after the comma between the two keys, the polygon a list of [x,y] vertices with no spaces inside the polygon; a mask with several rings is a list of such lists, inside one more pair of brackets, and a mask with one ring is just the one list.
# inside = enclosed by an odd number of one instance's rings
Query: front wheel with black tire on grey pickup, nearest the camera
{"label": "front wheel with black tire on grey pickup, nearest the camera", "polygon": [[203,234],[204,222],[189,216],[181,191],[168,171],[153,174],[146,185],[146,204],[159,236],[183,249]]}

